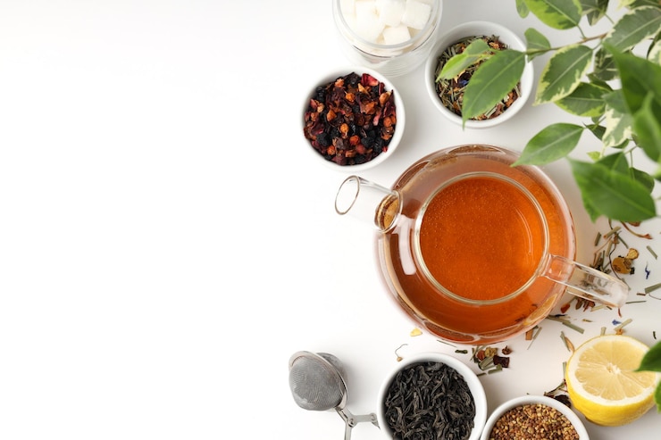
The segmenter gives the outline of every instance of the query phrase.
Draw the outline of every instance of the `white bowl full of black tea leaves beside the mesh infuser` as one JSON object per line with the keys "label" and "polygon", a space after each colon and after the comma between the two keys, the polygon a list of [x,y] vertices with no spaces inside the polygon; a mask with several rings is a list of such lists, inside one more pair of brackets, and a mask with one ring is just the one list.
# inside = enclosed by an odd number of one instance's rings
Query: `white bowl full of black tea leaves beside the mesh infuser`
{"label": "white bowl full of black tea leaves beside the mesh infuser", "polygon": [[377,418],[394,440],[477,440],[487,420],[487,397],[464,362],[444,353],[418,353],[384,380]]}

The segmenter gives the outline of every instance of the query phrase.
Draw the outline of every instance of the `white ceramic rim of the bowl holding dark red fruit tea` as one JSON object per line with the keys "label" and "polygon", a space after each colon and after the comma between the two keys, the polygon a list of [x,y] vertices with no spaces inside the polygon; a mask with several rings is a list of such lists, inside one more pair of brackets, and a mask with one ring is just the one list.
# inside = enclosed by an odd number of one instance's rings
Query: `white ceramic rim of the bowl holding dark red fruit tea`
{"label": "white ceramic rim of the bowl holding dark red fruit tea", "polygon": [[321,163],[323,166],[329,167],[332,170],[338,170],[338,171],[347,171],[351,173],[357,173],[361,172],[363,170],[368,170],[370,168],[373,168],[380,164],[381,162],[387,160],[392,154],[395,153],[395,150],[397,149],[397,146],[399,145],[399,142],[402,138],[402,135],[404,134],[404,127],[406,124],[406,112],[404,110],[404,101],[402,100],[401,95],[399,95],[399,92],[397,89],[393,86],[393,84],[389,81],[389,79],[385,78],[383,75],[381,75],[377,71],[372,71],[372,69],[367,69],[364,67],[360,66],[355,66],[355,67],[347,67],[344,69],[339,69],[338,71],[332,71],[328,75],[325,75],[323,78],[318,79],[317,81],[314,81],[314,84],[312,87],[309,87],[307,89],[305,99],[304,99],[304,104],[303,104],[303,109],[301,112],[301,131],[303,131],[303,127],[305,125],[304,121],[304,115],[305,112],[308,109],[308,106],[310,104],[310,99],[314,95],[314,90],[316,87],[323,86],[326,84],[331,83],[331,81],[335,81],[335,79],[338,79],[340,77],[344,77],[348,75],[351,72],[356,72],[358,75],[362,75],[364,73],[367,73],[371,75],[373,78],[378,79],[383,83],[385,90],[389,91],[391,90],[393,94],[395,95],[395,109],[396,109],[396,116],[397,116],[397,123],[395,125],[395,131],[393,133],[393,136],[390,138],[390,142],[387,148],[387,151],[383,151],[381,154],[377,155],[374,157],[372,160],[369,162],[364,162],[360,164],[355,164],[355,165],[339,165],[336,162],[329,161],[326,159],[321,153],[319,153],[314,146],[311,144],[311,141],[303,137],[303,142],[304,142],[304,147],[305,147],[305,154],[307,154],[308,158],[312,161],[316,161]]}

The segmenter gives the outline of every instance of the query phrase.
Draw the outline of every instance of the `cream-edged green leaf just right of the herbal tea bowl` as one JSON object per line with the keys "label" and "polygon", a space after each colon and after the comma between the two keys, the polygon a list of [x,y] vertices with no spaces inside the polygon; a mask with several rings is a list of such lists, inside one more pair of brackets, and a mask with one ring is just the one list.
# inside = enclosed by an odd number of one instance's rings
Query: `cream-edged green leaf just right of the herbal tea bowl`
{"label": "cream-edged green leaf just right of the herbal tea bowl", "polygon": [[592,49],[572,45],[558,49],[541,72],[535,104],[552,103],[569,95],[581,84],[590,68]]}

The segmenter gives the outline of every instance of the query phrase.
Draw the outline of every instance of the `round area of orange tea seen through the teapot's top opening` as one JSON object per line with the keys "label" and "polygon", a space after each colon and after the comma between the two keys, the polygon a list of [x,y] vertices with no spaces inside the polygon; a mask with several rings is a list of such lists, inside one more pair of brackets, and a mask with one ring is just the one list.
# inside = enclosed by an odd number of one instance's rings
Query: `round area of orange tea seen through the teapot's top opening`
{"label": "round area of orange tea seen through the teapot's top opening", "polygon": [[515,182],[489,175],[460,178],[433,195],[418,240],[431,277],[478,301],[523,286],[546,245],[539,206]]}

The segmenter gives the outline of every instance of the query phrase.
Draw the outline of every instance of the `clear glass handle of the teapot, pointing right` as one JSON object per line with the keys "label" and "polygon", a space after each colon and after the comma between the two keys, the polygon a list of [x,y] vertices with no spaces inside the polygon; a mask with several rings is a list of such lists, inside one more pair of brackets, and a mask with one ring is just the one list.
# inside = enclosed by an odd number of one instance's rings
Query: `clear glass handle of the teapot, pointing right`
{"label": "clear glass handle of the teapot, pointing right", "polygon": [[622,307],[629,296],[629,286],[621,279],[560,255],[550,255],[544,276],[570,288],[570,294]]}

